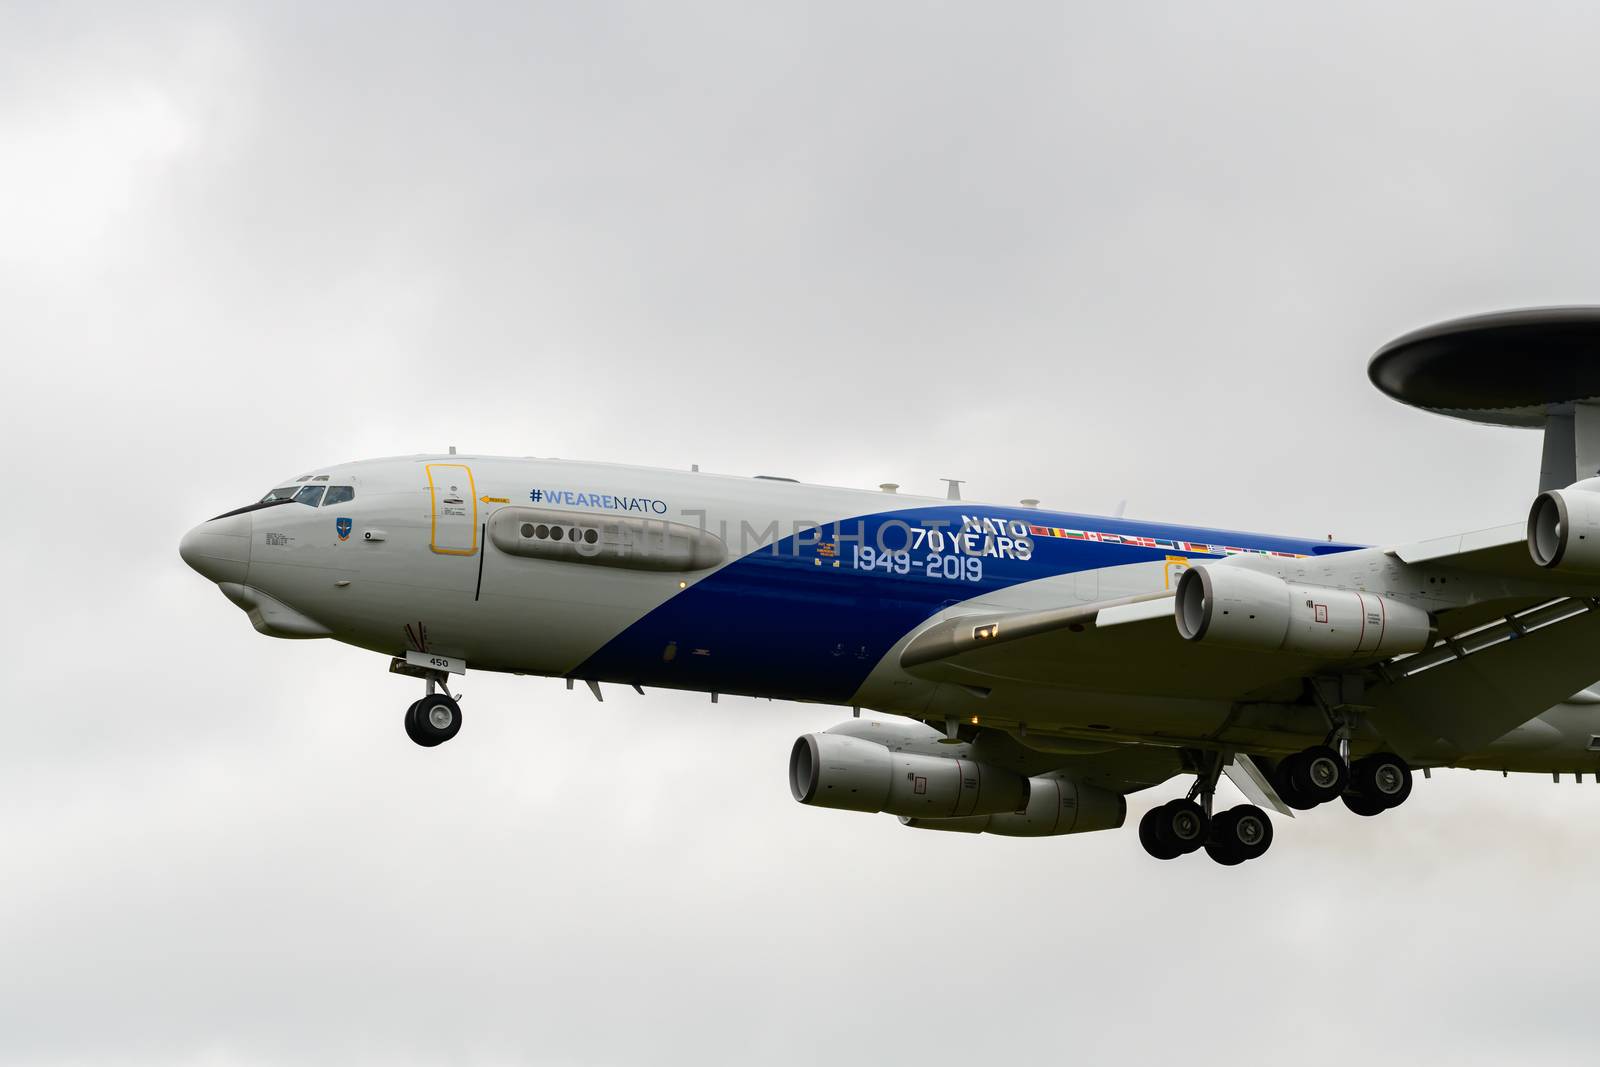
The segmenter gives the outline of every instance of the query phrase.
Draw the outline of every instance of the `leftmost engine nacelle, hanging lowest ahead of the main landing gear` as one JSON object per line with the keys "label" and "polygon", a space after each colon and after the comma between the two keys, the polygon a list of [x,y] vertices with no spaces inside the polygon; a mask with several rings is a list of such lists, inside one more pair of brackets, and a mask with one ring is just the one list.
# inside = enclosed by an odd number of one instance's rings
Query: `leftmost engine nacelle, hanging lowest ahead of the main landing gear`
{"label": "leftmost engine nacelle, hanging lowest ahead of the main landing gear", "polygon": [[789,753],[795,800],[845,811],[957,819],[1022,811],[1029,779],[976,760],[890,752],[848,734],[806,734]]}

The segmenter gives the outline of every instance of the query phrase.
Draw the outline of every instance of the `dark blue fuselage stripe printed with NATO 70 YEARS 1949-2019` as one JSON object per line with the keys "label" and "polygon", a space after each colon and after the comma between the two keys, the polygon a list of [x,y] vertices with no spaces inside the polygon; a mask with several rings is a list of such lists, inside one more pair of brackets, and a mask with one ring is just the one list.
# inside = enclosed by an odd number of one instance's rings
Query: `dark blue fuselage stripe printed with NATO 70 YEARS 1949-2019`
{"label": "dark blue fuselage stripe printed with NATO 70 YEARS 1949-2019", "polygon": [[[862,558],[882,561],[875,550],[880,537],[893,549],[904,545],[901,526],[955,531],[963,517],[989,517],[997,530],[1022,523],[1298,555],[1360,547],[986,506],[859,515],[784,537],[728,563],[618,633],[574,675],[843,704],[896,641],[952,603],[1042,577],[1192,555],[1166,547],[1030,536],[1027,558],[1018,558],[1014,547],[1006,558],[998,555],[1002,545],[992,533],[968,541],[966,552],[954,550],[954,537],[942,533],[942,552],[928,550],[930,534],[909,558],[891,555],[886,569],[858,566]],[[869,545],[870,555],[858,557],[858,545]],[[986,550],[990,555],[968,555]],[[955,566],[947,561],[952,555]],[[981,565],[968,563],[973,558]]]}

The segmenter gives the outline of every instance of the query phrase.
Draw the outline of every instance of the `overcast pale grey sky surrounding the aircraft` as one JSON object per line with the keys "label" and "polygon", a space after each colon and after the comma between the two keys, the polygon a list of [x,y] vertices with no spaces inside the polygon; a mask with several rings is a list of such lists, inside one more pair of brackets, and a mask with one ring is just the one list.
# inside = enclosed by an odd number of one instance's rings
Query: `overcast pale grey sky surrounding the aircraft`
{"label": "overcast pale grey sky surrounding the aircraft", "polygon": [[[512,10],[526,8],[526,10]],[[1506,1062],[1594,1049],[1600,787],[1258,864],[795,805],[838,709],[274,641],[288,474],[606,459],[1384,542],[1536,435],[1411,328],[1600,302],[1592,5],[0,3],[0,1062]],[[1600,669],[1597,669],[1600,673]]]}

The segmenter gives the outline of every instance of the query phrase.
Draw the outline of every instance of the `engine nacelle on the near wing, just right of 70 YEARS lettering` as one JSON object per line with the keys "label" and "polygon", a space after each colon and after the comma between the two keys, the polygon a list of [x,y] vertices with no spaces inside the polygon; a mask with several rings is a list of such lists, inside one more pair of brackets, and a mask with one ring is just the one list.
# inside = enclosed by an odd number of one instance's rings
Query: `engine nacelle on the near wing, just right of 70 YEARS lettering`
{"label": "engine nacelle on the near wing, just right of 70 YEARS lettering", "polygon": [[1325,659],[1419,653],[1434,637],[1427,611],[1390,597],[1206,563],[1178,579],[1173,616],[1190,641]]}

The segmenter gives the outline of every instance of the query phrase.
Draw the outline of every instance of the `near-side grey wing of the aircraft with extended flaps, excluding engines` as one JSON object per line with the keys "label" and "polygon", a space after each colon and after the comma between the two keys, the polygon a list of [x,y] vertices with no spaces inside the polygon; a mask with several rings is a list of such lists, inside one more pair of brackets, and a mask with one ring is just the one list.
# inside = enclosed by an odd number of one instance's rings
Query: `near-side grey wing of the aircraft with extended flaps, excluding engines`
{"label": "near-side grey wing of the aircraft with extended flaps, excluding engines", "polygon": [[1059,685],[1094,693],[1229,701],[1302,699],[1304,681],[1366,670],[1358,705],[1418,763],[1448,763],[1600,678],[1600,592],[1528,558],[1520,526],[1384,550],[1406,566],[1445,566],[1482,598],[1437,613],[1440,640],[1392,659],[1328,662],[1283,651],[1187,641],[1171,592],[1042,611],[942,621],[902,649],[920,677],[968,686]]}

